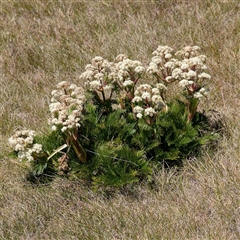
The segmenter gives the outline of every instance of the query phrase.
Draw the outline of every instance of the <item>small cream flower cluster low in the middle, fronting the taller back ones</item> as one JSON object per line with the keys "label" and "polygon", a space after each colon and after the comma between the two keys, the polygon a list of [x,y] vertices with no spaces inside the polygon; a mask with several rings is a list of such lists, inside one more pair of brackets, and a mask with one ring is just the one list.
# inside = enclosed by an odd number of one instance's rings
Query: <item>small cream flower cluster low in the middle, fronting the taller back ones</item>
{"label": "small cream flower cluster low in the middle, fronting the taller back ones", "polygon": [[133,113],[137,118],[142,117],[154,117],[158,111],[165,109],[167,106],[161,97],[163,90],[166,90],[166,86],[162,83],[156,84],[152,87],[149,84],[141,84],[134,92]]}

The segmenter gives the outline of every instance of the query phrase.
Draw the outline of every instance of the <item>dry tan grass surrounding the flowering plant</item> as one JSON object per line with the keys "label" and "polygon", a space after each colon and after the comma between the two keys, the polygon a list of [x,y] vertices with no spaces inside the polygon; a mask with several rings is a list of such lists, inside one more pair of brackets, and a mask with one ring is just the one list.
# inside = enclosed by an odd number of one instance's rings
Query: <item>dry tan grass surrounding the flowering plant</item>
{"label": "dry tan grass surrounding the flowering plant", "polygon": [[[0,239],[239,239],[240,5],[238,1],[0,1]],[[32,186],[8,157],[21,127],[46,131],[51,90],[79,82],[94,56],[147,63],[158,45],[199,45],[211,95],[226,118],[214,152],[145,183],[91,192],[80,181]]]}

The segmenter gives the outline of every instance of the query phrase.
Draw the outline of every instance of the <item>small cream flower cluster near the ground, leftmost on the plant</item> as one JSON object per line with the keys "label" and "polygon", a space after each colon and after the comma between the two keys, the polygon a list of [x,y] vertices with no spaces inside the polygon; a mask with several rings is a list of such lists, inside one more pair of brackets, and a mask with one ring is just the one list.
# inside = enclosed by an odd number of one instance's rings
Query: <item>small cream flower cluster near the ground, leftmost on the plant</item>
{"label": "small cream flower cluster near the ground, leftmost on the plant", "polygon": [[18,153],[18,158],[22,160],[32,161],[36,154],[42,152],[42,145],[34,143],[36,132],[33,130],[17,131],[8,141],[9,145]]}

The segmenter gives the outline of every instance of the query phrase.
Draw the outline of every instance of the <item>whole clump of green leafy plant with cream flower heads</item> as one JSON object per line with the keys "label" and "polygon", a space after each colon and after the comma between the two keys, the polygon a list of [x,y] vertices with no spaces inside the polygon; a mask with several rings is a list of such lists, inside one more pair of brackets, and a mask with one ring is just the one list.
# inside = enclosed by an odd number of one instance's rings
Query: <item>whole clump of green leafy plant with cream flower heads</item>
{"label": "whole clump of green leafy plant with cream flower heads", "polygon": [[63,81],[52,91],[49,133],[16,132],[14,152],[36,177],[82,178],[95,188],[138,182],[156,165],[197,154],[215,138],[197,111],[211,79],[199,52],[159,46],[148,66],[124,54],[93,58],[83,87]]}

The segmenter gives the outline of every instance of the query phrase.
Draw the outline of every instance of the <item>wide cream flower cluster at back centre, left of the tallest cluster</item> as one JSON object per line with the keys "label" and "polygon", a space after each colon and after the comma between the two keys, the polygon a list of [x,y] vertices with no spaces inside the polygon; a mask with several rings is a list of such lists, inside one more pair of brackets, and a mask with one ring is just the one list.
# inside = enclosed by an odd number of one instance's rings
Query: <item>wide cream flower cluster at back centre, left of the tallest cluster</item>
{"label": "wide cream flower cluster at back centre, left of the tallest cluster", "polygon": [[144,72],[145,67],[140,61],[131,60],[125,54],[119,54],[115,62],[97,56],[85,67],[80,79],[98,100],[105,101],[114,91],[131,91]]}

